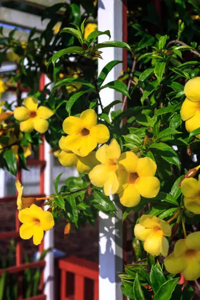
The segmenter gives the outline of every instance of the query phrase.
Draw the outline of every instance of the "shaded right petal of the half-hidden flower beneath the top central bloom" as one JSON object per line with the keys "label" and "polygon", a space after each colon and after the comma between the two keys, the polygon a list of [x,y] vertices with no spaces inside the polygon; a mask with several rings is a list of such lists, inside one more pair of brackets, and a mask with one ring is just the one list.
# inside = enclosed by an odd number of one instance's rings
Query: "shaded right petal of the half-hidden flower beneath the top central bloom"
{"label": "shaded right petal of the half-hidden flower beneath the top central bloom", "polygon": [[76,169],[78,173],[88,174],[95,166],[99,164],[100,162],[96,158],[96,152],[92,151],[87,156],[78,156]]}

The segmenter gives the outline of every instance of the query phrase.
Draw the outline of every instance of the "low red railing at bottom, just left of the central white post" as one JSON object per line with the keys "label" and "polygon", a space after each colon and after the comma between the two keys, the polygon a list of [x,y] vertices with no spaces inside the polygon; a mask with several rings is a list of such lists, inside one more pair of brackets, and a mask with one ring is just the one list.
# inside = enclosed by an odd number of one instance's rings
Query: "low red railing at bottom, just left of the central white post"
{"label": "low red railing at bottom, just left of the central white post", "polygon": [[70,256],[59,260],[60,300],[99,300],[99,265]]}

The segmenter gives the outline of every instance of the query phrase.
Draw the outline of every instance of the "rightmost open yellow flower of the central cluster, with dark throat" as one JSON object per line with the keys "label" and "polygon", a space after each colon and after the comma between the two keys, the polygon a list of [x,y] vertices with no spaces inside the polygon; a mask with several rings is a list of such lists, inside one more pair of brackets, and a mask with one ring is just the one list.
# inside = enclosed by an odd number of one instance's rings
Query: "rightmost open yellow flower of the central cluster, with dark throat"
{"label": "rightmost open yellow flower of the central cluster, with dark throat", "polygon": [[154,198],[160,189],[156,178],[156,164],[149,157],[138,158],[133,152],[126,151],[119,159],[128,173],[127,182],[118,191],[120,201],[124,206],[132,207],[140,202],[140,196]]}

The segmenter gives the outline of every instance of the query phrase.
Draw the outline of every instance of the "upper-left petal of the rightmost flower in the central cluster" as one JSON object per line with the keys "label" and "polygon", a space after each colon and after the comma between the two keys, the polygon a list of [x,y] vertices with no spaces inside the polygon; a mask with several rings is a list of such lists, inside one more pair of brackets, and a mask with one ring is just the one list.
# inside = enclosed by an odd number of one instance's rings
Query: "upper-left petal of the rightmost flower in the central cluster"
{"label": "upper-left petal of the rightmost flower in the central cluster", "polygon": [[131,151],[126,151],[120,155],[119,163],[125,167],[128,173],[137,172],[139,158]]}

